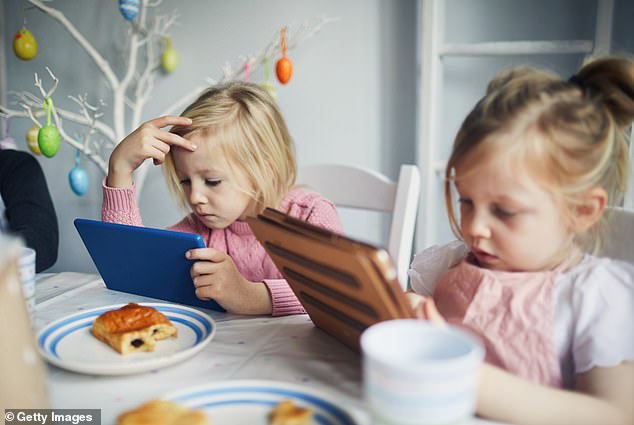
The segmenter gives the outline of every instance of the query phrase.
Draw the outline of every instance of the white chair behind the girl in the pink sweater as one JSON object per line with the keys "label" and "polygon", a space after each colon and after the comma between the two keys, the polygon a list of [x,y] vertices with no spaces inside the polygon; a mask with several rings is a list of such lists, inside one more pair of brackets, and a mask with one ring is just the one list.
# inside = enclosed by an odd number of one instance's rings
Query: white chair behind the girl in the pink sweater
{"label": "white chair behind the girl in the pink sweater", "polygon": [[420,173],[415,165],[401,165],[398,181],[365,168],[317,164],[299,170],[298,183],[321,193],[337,207],[392,214],[389,252],[403,289],[411,262],[414,224],[420,196]]}

